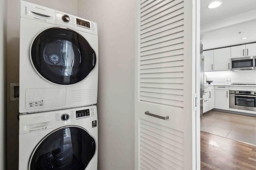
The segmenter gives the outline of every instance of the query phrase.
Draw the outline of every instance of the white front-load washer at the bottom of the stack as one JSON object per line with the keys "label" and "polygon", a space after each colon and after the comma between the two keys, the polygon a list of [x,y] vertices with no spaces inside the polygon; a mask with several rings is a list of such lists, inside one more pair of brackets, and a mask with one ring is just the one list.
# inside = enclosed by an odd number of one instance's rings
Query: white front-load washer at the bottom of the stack
{"label": "white front-load washer at the bottom of the stack", "polygon": [[96,106],[20,114],[19,170],[97,170]]}

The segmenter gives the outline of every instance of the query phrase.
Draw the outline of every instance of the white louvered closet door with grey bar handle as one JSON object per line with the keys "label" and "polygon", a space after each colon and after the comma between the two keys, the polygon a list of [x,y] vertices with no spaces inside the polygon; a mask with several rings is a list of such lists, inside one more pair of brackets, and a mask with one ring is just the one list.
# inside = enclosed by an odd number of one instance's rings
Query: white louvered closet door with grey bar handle
{"label": "white louvered closet door with grey bar handle", "polygon": [[197,101],[193,97],[199,36],[197,3],[140,1],[135,71],[136,170],[195,170],[198,166]]}

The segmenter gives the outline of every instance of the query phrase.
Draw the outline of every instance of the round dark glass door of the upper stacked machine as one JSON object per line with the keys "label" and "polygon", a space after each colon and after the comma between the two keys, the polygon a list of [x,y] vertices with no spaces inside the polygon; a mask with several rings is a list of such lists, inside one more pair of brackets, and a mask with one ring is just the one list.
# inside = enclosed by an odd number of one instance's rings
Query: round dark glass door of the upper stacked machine
{"label": "round dark glass door of the upper stacked machine", "polygon": [[79,83],[96,65],[96,53],[90,44],[68,28],[41,32],[32,43],[30,57],[41,77],[59,85]]}

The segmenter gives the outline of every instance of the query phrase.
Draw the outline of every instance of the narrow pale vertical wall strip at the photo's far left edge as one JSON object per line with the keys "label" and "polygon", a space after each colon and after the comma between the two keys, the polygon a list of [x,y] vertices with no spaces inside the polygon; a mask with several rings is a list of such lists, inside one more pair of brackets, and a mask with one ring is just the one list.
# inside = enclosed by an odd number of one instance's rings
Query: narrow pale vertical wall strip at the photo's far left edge
{"label": "narrow pale vertical wall strip at the photo's far left edge", "polygon": [[5,169],[5,41],[6,0],[0,0],[0,170]]}

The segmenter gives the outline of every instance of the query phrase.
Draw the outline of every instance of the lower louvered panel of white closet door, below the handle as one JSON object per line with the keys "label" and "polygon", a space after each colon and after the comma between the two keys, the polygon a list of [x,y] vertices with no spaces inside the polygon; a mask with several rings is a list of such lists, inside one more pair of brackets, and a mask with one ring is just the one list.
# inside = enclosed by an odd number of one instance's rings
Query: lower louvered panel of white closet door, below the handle
{"label": "lower louvered panel of white closet door, below the handle", "polygon": [[141,169],[184,169],[183,132],[140,119]]}

